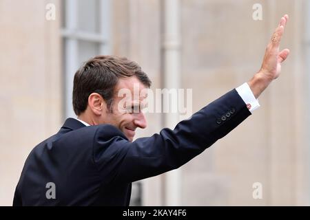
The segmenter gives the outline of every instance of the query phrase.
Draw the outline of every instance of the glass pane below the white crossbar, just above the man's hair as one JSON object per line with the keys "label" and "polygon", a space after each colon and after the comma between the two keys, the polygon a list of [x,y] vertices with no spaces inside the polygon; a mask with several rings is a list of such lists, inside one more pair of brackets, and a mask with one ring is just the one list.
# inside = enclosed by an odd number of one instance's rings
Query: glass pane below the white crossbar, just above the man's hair
{"label": "glass pane below the white crossbar, just above the man's hair", "polygon": [[[81,66],[85,61],[100,54],[100,44],[88,41],[79,41],[78,63]],[[74,56],[74,54],[72,54]]]}

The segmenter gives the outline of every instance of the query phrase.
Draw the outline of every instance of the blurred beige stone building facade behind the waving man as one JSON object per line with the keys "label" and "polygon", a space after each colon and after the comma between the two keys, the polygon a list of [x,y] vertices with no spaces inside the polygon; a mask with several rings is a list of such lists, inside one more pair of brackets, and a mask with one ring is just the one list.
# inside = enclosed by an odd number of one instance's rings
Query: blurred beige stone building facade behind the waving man
{"label": "blurred beige stone building facade behind the waving man", "polygon": [[[49,3],[55,20],[46,18]],[[262,21],[252,18],[256,3]],[[290,20],[281,45],[291,54],[260,96],[260,109],[177,171],[135,183],[132,205],[308,206],[307,0],[0,0],[0,205],[12,204],[31,149],[74,116],[72,80],[83,61],[126,56],[149,74],[153,89],[193,89],[198,111],[258,71],[283,14]],[[169,118],[148,113],[138,136],[173,127]],[[253,197],[257,182],[262,199]]]}

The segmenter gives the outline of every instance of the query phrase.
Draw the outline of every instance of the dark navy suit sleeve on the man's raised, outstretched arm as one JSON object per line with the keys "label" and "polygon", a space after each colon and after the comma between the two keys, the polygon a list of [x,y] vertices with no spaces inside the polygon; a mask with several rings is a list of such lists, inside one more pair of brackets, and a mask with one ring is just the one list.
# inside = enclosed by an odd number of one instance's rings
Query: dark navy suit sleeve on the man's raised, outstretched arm
{"label": "dark navy suit sleeve on the man's raised, outstretched arm", "polygon": [[151,137],[129,142],[113,126],[98,129],[94,163],[102,179],[109,182],[132,182],[159,175],[189,162],[249,115],[245,102],[233,89],[189,120],[179,122],[174,130],[163,129]]}

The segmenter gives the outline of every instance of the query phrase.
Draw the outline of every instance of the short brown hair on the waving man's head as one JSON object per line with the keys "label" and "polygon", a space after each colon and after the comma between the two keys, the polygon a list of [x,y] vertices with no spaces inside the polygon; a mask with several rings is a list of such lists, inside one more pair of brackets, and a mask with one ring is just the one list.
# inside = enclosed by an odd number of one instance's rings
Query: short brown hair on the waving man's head
{"label": "short brown hair on the waving man's head", "polygon": [[102,96],[111,109],[114,87],[118,78],[136,76],[146,87],[152,82],[141,67],[134,61],[118,56],[95,56],[85,62],[74,75],[72,104],[74,113],[80,115],[88,104],[88,97],[93,92]]}

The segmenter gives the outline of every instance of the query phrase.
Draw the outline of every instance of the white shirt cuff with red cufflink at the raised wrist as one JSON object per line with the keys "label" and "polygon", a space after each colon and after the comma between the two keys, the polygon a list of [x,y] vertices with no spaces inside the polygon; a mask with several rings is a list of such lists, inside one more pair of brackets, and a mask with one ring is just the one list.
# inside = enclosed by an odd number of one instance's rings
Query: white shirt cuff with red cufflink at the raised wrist
{"label": "white shirt cuff with red cufflink at the raised wrist", "polygon": [[260,107],[260,103],[258,103],[258,100],[254,97],[254,94],[247,83],[243,83],[240,87],[236,88],[236,90],[245,104],[247,104],[247,109],[249,109],[249,111],[252,112]]}

